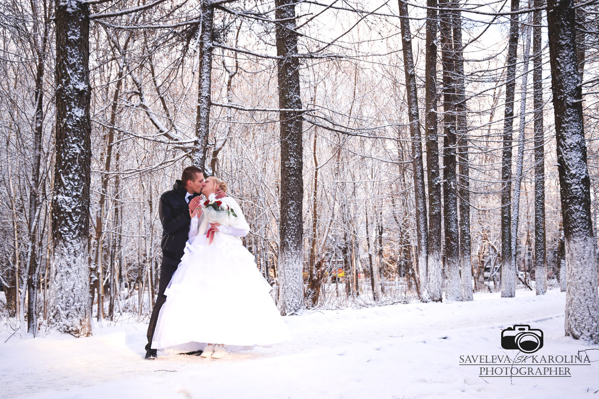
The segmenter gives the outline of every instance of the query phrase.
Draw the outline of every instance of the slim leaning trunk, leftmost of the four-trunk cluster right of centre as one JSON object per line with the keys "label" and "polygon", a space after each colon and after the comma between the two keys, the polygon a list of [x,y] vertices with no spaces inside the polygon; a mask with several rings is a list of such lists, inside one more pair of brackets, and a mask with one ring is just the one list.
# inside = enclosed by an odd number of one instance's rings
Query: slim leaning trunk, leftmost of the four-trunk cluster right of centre
{"label": "slim leaning trunk, leftmost of the four-trunk cluster right of centre", "polygon": [[401,42],[403,44],[404,73],[406,74],[406,95],[408,115],[410,118],[410,140],[412,141],[412,166],[414,169],[414,197],[416,200],[416,237],[418,240],[418,262],[420,294],[423,301],[428,301],[428,232],[426,231],[426,192],[424,188],[424,168],[422,163],[422,137],[420,136],[420,116],[418,114],[418,87],[414,71],[412,54],[412,33],[408,19],[408,5],[399,0]]}

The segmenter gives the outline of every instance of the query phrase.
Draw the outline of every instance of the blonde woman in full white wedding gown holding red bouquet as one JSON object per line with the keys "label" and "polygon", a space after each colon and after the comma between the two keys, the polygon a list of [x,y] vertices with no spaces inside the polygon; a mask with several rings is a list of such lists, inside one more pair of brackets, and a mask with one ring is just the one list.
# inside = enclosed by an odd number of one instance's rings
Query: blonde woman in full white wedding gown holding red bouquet
{"label": "blonde woman in full white wedding gown holding red bouquet", "polygon": [[231,197],[214,200],[217,187],[226,191],[224,182],[206,179],[208,200],[190,211],[189,240],[165,292],[152,349],[203,350],[202,357],[221,358],[291,339],[272,287],[241,243],[250,230],[243,212]]}

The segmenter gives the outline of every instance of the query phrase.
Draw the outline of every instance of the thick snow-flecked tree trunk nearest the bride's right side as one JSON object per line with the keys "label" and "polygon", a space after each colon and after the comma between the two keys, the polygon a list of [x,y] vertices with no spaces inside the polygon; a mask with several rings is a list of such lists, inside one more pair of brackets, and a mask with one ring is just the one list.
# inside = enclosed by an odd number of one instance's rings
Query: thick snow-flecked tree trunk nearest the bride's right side
{"label": "thick snow-flecked tree trunk nearest the bride's right side", "polygon": [[281,138],[279,226],[279,310],[289,315],[304,308],[302,282],[302,104],[299,91],[295,2],[276,0],[277,77]]}

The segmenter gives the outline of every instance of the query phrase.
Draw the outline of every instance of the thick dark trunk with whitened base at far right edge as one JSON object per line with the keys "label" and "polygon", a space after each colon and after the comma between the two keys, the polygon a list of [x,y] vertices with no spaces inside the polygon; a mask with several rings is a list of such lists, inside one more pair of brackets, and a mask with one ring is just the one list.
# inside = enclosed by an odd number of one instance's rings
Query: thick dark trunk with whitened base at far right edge
{"label": "thick dark trunk with whitened base at far right edge", "polygon": [[573,6],[572,0],[547,1],[559,191],[565,222],[565,334],[599,343],[597,243],[592,229]]}

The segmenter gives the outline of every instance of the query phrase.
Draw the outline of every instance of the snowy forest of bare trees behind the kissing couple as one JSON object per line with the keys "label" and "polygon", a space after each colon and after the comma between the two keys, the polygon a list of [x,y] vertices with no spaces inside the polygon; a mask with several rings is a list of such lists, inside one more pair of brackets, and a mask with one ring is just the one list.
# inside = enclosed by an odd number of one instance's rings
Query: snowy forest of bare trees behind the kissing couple
{"label": "snowy forest of bare trees behind the kissing couple", "polygon": [[[159,196],[193,164],[240,202],[244,245],[283,314],[510,297],[516,285],[575,295],[579,276],[599,318],[598,12],[541,0],[2,2],[0,312],[34,335],[146,317]],[[564,76],[578,97],[558,109]],[[580,124],[556,117],[571,109]],[[560,175],[558,154],[576,145]],[[572,175],[583,183],[568,197]],[[584,267],[567,266],[577,255]],[[596,326],[570,334],[597,340]]]}

